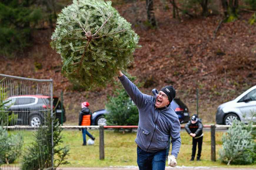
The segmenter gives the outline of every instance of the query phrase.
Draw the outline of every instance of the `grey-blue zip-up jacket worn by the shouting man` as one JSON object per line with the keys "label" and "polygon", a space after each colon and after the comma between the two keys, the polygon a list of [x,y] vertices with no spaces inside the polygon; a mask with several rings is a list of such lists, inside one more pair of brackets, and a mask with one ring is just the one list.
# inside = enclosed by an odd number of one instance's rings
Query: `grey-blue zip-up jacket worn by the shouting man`
{"label": "grey-blue zip-up jacket worn by the shouting man", "polygon": [[153,89],[154,96],[141,93],[139,89],[125,76],[119,77],[124,89],[139,110],[139,125],[135,142],[147,152],[157,152],[167,148],[171,137],[172,155],[178,156],[181,145],[180,123],[178,115],[171,105],[163,110],[155,107],[158,91]]}

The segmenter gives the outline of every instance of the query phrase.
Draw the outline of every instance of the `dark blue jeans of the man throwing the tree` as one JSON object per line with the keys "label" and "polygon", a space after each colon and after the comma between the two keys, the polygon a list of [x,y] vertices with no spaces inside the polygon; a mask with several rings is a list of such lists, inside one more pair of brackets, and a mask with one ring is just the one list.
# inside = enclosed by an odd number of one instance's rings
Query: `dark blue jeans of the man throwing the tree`
{"label": "dark blue jeans of the man throwing the tree", "polygon": [[137,146],[137,164],[139,170],[164,170],[166,149],[146,152]]}

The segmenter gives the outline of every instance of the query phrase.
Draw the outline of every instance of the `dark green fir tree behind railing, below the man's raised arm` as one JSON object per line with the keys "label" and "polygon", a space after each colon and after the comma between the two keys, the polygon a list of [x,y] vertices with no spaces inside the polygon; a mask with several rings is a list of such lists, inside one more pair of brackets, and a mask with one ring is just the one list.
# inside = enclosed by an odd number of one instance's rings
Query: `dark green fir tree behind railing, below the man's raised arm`
{"label": "dark green fir tree behind railing, below the man's raised arm", "polygon": [[[132,80],[135,78],[133,77]],[[138,125],[139,111],[132,102],[121,83],[117,84],[118,89],[114,90],[114,96],[109,96],[106,109],[110,114],[106,115],[109,125]]]}

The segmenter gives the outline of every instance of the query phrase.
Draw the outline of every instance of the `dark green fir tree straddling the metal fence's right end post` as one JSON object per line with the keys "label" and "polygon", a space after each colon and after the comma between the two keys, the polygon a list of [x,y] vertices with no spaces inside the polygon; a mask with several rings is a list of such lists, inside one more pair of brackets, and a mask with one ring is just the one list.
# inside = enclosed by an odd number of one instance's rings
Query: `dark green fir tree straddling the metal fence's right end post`
{"label": "dark green fir tree straddling the metal fence's right end post", "polygon": [[[34,133],[34,142],[25,150],[21,170],[44,169],[52,166],[51,153],[54,150],[54,170],[61,164],[68,164],[69,146],[60,146],[63,143],[59,120],[48,114],[46,127],[40,126]],[[51,121],[53,123],[53,143],[51,144]],[[43,153],[42,153],[43,152]]]}

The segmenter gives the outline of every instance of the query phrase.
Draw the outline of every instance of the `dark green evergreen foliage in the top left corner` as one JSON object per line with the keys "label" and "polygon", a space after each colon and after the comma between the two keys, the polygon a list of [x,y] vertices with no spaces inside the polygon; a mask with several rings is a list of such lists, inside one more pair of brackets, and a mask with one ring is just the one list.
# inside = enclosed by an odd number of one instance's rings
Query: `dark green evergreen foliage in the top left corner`
{"label": "dark green evergreen foliage in the top left corner", "polygon": [[31,24],[41,18],[34,1],[0,2],[0,55],[13,56],[30,45]]}

